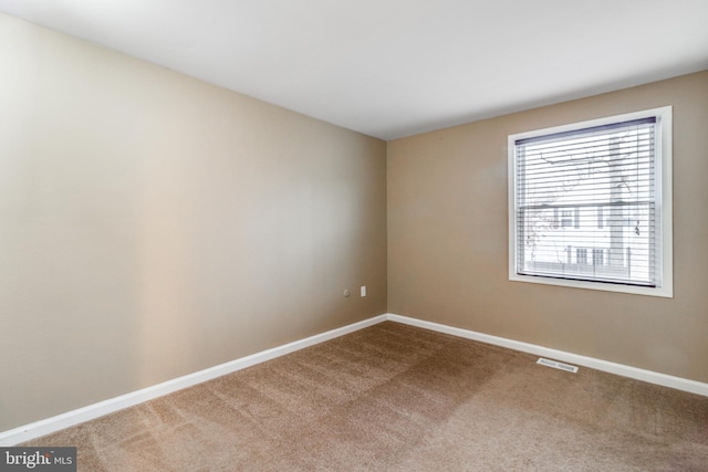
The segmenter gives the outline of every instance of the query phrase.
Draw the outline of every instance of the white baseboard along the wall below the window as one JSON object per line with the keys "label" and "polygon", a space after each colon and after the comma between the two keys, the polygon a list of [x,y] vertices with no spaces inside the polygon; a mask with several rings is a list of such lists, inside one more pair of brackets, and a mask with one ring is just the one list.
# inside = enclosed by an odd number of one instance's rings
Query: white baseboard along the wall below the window
{"label": "white baseboard along the wall below the window", "polygon": [[425,329],[435,331],[438,333],[445,333],[452,336],[464,337],[467,339],[478,340],[481,343],[493,344],[496,346],[508,347],[509,349],[520,350],[522,353],[529,353],[537,356],[550,357],[552,359],[562,360],[564,363],[576,364],[583,367],[589,367],[595,370],[602,370],[610,374],[615,374],[623,377],[633,378],[636,380],[643,380],[649,384],[660,385],[663,387],[670,387],[678,390],[688,391],[691,394],[702,395],[708,397],[708,384],[699,382],[696,380],[689,380],[681,377],[674,377],[666,374],[655,373],[653,370],[645,370],[637,367],[626,366],[624,364],[611,363],[607,360],[597,359],[594,357],[581,356],[577,354],[566,353],[563,350],[551,349],[549,347],[538,346],[535,344],[522,343],[519,340],[508,339],[498,336],[491,336],[483,333],[477,333],[469,329],[456,328],[452,326],[442,325],[439,323],[425,322],[421,319],[409,318],[407,316],[395,315],[393,313],[386,314],[386,319],[403,323],[410,326],[417,326]]}

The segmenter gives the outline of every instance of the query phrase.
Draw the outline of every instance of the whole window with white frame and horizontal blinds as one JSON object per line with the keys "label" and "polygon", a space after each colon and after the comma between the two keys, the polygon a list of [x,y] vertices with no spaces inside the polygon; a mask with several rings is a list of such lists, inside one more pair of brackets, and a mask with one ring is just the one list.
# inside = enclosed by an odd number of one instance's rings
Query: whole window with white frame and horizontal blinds
{"label": "whole window with white frame and horizontal blinds", "polygon": [[670,107],[509,136],[509,279],[673,296],[670,138]]}

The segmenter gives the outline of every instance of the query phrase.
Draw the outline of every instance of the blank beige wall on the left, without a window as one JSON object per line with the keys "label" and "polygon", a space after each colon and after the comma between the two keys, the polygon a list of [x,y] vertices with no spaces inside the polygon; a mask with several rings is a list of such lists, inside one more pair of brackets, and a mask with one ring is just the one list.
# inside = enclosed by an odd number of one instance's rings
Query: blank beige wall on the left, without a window
{"label": "blank beige wall on the left, without a window", "polygon": [[0,431],[386,311],[384,141],[2,14],[0,64]]}

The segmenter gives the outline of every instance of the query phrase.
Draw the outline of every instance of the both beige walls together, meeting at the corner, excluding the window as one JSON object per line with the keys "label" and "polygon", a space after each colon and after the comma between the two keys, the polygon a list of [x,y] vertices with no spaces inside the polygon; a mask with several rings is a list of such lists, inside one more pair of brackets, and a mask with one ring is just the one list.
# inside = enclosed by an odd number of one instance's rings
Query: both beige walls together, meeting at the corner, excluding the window
{"label": "both beige walls together, meeting at the corner, excluding the window", "polygon": [[[708,381],[708,72],[399,139],[386,169],[383,141],[2,14],[0,64],[0,431],[386,303]],[[663,105],[675,297],[509,282],[507,135]]]}

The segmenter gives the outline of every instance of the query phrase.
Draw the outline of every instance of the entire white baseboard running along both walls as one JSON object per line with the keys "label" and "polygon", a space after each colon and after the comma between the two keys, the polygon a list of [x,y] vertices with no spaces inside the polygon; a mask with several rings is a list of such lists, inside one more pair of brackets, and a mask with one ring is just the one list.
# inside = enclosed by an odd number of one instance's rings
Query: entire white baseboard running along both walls
{"label": "entire white baseboard running along both walls", "polygon": [[416,318],[409,318],[407,316],[395,315],[387,313],[378,315],[373,318],[364,319],[358,323],[354,323],[341,328],[332,329],[326,333],[322,333],[315,336],[306,337],[304,339],[295,340],[293,343],[285,344],[283,346],[273,347],[271,349],[262,350],[260,353],[252,354],[250,356],[241,357],[229,363],[225,363],[215,367],[209,367],[204,370],[199,370],[194,374],[189,374],[183,377],[178,377],[173,380],[147,387],[140,390],[136,390],[119,397],[115,397],[108,400],[100,401],[97,403],[90,405],[84,408],[67,411],[62,415],[58,415],[52,418],[35,421],[19,428],[14,428],[8,431],[0,432],[0,447],[8,447],[19,444],[24,441],[29,441],[52,432],[59,431],[64,428],[69,428],[84,421],[93,420],[104,415],[112,413],[114,411],[122,410],[124,408],[133,407],[142,402],[153,400],[157,397],[171,394],[177,390],[181,390],[187,387],[191,387],[197,384],[201,384],[214,378],[235,373],[237,370],[244,369],[247,367],[254,366],[260,363],[264,363],[270,359],[274,359],[285,354],[294,353],[295,350],[303,349],[305,347],[314,346],[315,344],[323,343],[325,340],[334,339],[335,337],[343,336],[363,329],[368,326],[373,326],[377,323],[392,321],[396,323],[403,323],[410,326],[417,326],[425,329],[435,331],[438,333],[445,333],[452,336],[462,337],[466,339],[478,340],[481,343],[493,344],[496,346],[502,346],[523,353],[529,353],[538,356],[550,357],[564,363],[577,364],[580,366],[590,367],[596,370],[603,370],[611,374],[616,374],[623,377],[629,377],[637,380],[644,380],[650,384],[660,385],[664,387],[676,388],[678,390],[689,391],[691,394],[698,394],[708,397],[708,384],[702,384],[695,380],[688,380],[680,377],[674,377],[666,374],[659,374],[652,370],[638,369],[636,367],[625,366],[622,364],[610,363],[593,357],[580,356],[572,353],[565,353],[563,350],[551,349],[534,344],[522,343],[519,340],[507,339],[503,337],[491,336],[483,333],[477,333],[469,329],[456,328],[452,326],[442,325],[439,323],[431,323]]}

